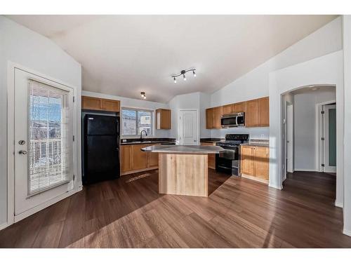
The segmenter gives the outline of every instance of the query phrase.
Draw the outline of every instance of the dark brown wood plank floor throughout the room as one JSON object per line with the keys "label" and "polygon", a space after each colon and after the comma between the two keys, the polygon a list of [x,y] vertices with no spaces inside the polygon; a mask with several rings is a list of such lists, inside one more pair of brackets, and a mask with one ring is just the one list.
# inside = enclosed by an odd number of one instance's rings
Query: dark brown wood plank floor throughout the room
{"label": "dark brown wood plank floor throughout the room", "polygon": [[157,194],[157,170],[84,190],[0,231],[2,248],[351,248],[335,175],[284,190],[209,170],[208,198]]}

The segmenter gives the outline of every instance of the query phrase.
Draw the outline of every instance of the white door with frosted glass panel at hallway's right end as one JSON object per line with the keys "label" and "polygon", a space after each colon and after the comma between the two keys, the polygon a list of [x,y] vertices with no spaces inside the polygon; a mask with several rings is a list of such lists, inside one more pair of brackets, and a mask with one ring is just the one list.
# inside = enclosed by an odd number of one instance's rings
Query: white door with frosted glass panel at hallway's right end
{"label": "white door with frosted glass panel at hallway's right end", "polygon": [[322,108],[322,168],[325,173],[336,173],[336,104],[324,105]]}

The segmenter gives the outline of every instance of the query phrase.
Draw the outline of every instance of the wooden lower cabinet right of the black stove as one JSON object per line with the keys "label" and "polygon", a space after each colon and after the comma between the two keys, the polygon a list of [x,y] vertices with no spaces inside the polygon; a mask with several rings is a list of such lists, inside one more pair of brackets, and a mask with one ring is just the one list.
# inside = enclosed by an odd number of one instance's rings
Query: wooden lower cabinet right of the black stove
{"label": "wooden lower cabinet right of the black stove", "polygon": [[268,183],[270,177],[270,148],[241,145],[240,173],[242,177]]}

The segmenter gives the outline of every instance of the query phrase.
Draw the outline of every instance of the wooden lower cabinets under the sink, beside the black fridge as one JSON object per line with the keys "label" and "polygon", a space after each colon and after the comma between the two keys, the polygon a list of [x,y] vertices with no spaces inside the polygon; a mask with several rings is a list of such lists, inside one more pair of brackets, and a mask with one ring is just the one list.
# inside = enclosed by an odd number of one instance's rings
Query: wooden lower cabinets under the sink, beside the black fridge
{"label": "wooden lower cabinets under the sink, beside the black fridge", "polygon": [[152,145],[155,144],[121,145],[121,175],[158,168],[159,154],[141,150]]}

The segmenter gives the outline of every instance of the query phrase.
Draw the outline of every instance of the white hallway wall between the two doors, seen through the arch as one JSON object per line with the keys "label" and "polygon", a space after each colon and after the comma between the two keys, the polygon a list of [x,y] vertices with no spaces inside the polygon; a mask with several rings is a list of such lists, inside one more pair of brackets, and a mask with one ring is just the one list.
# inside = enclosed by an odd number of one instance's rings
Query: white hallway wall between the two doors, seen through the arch
{"label": "white hallway wall between the two doors, seen through the arch", "polygon": [[295,170],[319,171],[319,114],[316,105],[332,100],[336,100],[336,89],[332,87],[294,95]]}

